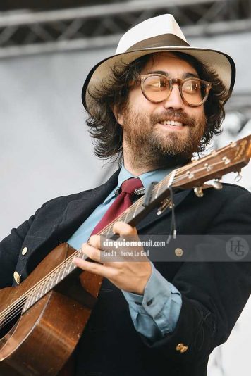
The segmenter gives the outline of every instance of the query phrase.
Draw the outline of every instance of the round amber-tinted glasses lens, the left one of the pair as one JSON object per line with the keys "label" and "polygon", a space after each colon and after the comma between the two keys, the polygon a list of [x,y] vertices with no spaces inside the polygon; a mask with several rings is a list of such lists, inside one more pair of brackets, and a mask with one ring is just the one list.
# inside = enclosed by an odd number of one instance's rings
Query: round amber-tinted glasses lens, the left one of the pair
{"label": "round amber-tinted glasses lens, the left one of the pair", "polygon": [[161,76],[149,76],[143,83],[143,92],[149,101],[164,101],[170,92],[169,80]]}

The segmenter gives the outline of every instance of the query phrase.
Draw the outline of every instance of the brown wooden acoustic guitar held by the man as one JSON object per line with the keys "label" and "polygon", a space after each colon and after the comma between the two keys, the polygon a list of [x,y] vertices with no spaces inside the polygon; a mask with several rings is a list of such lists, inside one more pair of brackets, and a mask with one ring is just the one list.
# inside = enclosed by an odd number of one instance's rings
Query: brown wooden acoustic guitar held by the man
{"label": "brown wooden acoustic guitar held by the man", "polygon": [[[220,189],[221,177],[240,174],[250,157],[251,135],[173,170],[99,234],[114,239],[112,226],[117,220],[135,226],[154,208],[162,213],[170,206],[173,189],[193,188],[198,197],[206,187]],[[67,375],[63,367],[78,344],[102,284],[102,277],[77,268],[74,256],[84,257],[68,244],[60,244],[17,287],[1,289],[1,376]]]}

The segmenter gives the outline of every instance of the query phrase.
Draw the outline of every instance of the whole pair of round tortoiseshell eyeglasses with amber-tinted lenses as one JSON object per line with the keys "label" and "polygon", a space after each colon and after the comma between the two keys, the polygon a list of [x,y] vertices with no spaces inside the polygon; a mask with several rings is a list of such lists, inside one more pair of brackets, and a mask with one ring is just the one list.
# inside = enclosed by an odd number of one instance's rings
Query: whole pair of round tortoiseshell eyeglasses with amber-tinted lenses
{"label": "whole pair of round tortoiseshell eyeglasses with amber-tinted lenses", "polygon": [[178,84],[180,96],[188,106],[197,107],[207,101],[212,83],[200,80],[197,77],[169,78],[159,73],[141,75],[139,80],[142,94],[148,101],[160,103],[169,98],[173,84]]}

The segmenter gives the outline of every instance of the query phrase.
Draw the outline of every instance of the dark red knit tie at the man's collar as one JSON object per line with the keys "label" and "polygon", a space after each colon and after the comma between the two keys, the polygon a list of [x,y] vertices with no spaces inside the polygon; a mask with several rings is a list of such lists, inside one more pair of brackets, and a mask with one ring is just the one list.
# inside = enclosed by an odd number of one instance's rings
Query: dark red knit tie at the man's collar
{"label": "dark red knit tie at the man's collar", "polygon": [[115,218],[118,217],[125,209],[132,205],[132,196],[137,188],[142,187],[141,180],[137,177],[132,177],[125,180],[121,185],[121,193],[116,197],[115,201],[111,204],[109,209],[106,211],[102,219],[97,223],[96,227],[92,231],[92,235],[97,234],[106,225],[109,225]]}

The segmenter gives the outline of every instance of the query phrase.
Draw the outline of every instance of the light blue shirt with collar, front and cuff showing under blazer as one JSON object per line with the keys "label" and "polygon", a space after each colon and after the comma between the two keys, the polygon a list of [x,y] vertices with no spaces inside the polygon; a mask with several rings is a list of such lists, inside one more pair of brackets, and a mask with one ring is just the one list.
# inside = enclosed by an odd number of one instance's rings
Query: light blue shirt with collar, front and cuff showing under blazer
{"label": "light blue shirt with collar, front and cuff showing under blazer", "polygon": [[[147,189],[151,182],[160,182],[170,172],[170,169],[159,169],[144,173],[138,177]],[[118,185],[114,191],[121,187],[121,184],[130,177],[133,177],[133,175],[122,166],[118,175]],[[73,246],[73,248],[80,249],[82,243],[87,242],[94,227],[116,199],[114,191],[106,197],[103,203],[97,206],[68,240],[68,244]],[[152,275],[147,281],[144,295],[137,295],[123,290],[122,292],[128,302],[135,330],[151,341],[157,341],[175,329],[182,300],[178,289],[154,268],[153,263],[151,265]]]}

